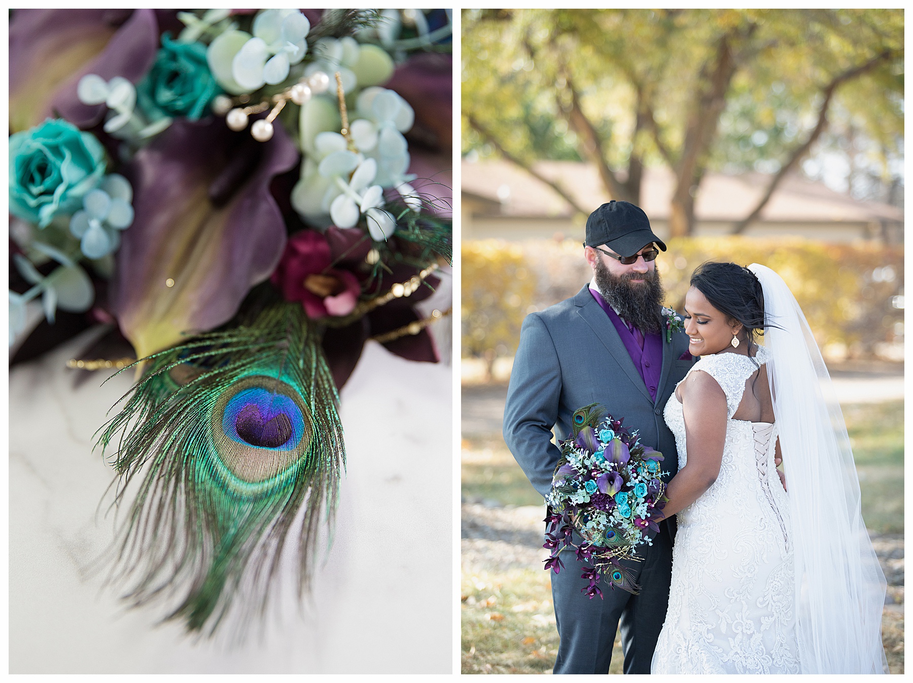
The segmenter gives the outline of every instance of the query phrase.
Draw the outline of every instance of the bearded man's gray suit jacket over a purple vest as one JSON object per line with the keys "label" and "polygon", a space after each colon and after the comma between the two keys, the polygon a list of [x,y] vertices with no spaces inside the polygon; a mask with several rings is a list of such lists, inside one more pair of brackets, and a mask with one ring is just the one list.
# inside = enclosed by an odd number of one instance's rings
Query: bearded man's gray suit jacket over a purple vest
{"label": "bearded man's gray suit jacket over a purple vest", "polygon": [[675,436],[663,419],[663,408],[694,359],[679,361],[687,352],[687,335],[676,332],[663,342],[663,370],[650,398],[612,321],[584,285],[574,297],[523,320],[519,348],[510,373],[504,406],[504,441],[532,486],[544,497],[561,455],[551,443],[571,432],[571,415],[583,405],[600,403],[624,426],[640,430],[641,442],[666,458],[666,482],[678,471]]}

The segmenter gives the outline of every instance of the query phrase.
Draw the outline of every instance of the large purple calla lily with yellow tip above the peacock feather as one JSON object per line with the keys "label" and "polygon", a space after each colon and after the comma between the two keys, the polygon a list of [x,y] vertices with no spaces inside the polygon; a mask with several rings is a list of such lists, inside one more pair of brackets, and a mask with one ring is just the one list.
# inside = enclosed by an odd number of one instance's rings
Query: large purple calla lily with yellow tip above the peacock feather
{"label": "large purple calla lily with yellow tip above the peacock feather", "polygon": [[[245,145],[259,147],[246,155]],[[249,168],[228,187],[229,162],[241,157]],[[269,278],[286,243],[269,184],[297,159],[278,122],[261,143],[224,121],[177,119],[137,152],[129,172],[136,218],[123,234],[112,306],[138,357],[226,322]]]}

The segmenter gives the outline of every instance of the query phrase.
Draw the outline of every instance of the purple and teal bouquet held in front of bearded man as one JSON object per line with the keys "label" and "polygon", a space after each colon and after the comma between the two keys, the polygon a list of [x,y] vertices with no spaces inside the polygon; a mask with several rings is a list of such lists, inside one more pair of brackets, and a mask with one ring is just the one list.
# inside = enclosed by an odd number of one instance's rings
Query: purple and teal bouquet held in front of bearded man
{"label": "purple and teal bouquet held in front of bearded man", "polygon": [[[561,442],[561,458],[546,499],[544,548],[551,551],[545,569],[561,572],[559,553],[576,548],[577,559],[590,562],[582,589],[590,599],[603,596],[598,583],[605,575],[610,587],[637,594],[639,586],[621,560],[637,560],[638,545],[652,545],[666,504],[660,476],[663,455],[640,443],[637,431],[622,426],[624,418],[606,415],[598,404],[572,415],[572,434]],[[572,542],[577,531],[583,542]]]}

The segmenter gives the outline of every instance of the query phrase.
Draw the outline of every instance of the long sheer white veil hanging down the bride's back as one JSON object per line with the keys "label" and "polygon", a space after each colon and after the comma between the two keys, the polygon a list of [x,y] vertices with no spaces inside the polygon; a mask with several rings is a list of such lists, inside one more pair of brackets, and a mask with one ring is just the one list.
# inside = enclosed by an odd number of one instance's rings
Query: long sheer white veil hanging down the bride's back
{"label": "long sheer white veil hanging down the bride's back", "polygon": [[749,269],[764,292],[764,345],[771,352],[768,376],[792,518],[802,673],[887,673],[881,644],[885,576],[862,519],[859,478],[830,374],[786,283],[771,268]]}

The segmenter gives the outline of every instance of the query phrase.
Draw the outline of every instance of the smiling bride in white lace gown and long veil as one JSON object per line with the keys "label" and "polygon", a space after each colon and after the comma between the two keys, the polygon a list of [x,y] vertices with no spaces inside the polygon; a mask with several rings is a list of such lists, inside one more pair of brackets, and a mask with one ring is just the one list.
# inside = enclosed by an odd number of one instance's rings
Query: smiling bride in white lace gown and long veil
{"label": "smiling bride in white lace gown and long veil", "polygon": [[886,672],[885,579],[802,310],[770,268],[734,263],[698,268],[685,309],[701,359],[665,409],[678,531],[651,672]]}

